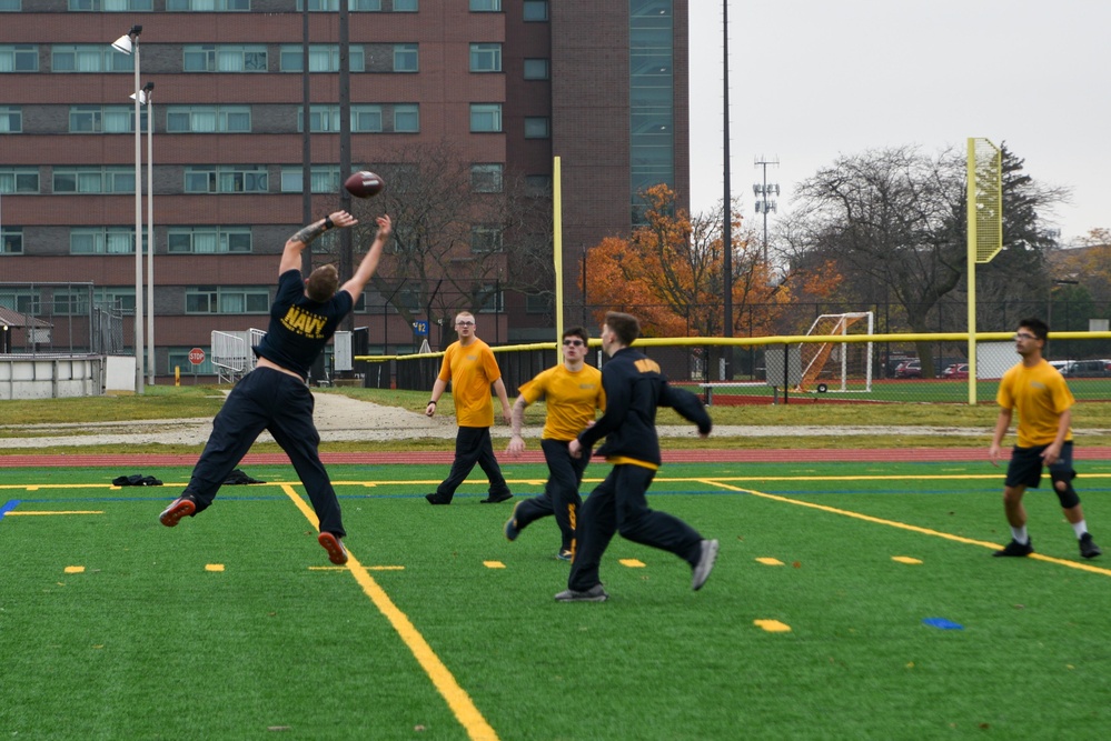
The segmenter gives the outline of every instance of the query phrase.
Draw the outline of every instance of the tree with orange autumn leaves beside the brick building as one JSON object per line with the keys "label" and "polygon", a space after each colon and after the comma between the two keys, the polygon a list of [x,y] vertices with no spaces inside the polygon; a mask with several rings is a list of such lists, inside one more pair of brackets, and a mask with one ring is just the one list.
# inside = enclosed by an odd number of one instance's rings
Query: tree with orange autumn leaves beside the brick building
{"label": "tree with orange autumn leaves beside the brick building", "polygon": [[[606,238],[587,253],[586,291],[591,303],[602,307],[597,320],[614,308],[637,314],[646,337],[721,337],[724,209],[692,220],[675,207],[675,194],[666,186],[643,197],[646,224],[629,239]],[[733,232],[742,233],[740,219]],[[732,246],[733,333],[747,333],[750,326],[753,334],[768,333],[791,301],[791,286],[772,284],[751,233],[734,237]]]}

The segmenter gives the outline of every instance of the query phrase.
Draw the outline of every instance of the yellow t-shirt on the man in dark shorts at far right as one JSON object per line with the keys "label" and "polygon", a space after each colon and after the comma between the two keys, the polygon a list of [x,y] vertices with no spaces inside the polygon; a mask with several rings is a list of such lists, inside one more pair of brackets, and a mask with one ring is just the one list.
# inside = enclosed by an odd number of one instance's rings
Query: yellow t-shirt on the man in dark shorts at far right
{"label": "yellow t-shirt on the man in dark shorts at far right", "polygon": [[[1058,420],[1077,400],[1060,371],[1042,360],[1033,368],[1019,363],[1006,371],[995,401],[1019,412],[1019,447],[1033,448],[1057,439]],[[1064,439],[1072,440],[1072,428]]]}

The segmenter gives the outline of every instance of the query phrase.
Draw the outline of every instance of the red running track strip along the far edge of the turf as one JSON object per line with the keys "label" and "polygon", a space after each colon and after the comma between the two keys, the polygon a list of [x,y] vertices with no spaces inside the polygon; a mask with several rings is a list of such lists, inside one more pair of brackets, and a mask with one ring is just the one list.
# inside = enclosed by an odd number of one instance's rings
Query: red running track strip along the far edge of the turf
{"label": "red running track strip along the far edge of the turf", "polygon": [[[1078,448],[1078,460],[1111,460],[1111,448]],[[159,454],[159,453],[105,453],[105,454],[50,454],[50,455],[0,455],[0,465],[4,468],[147,468],[152,465],[186,465],[197,462],[194,454]],[[452,451],[414,451],[414,452],[358,452],[358,453],[320,453],[325,464],[438,464],[450,465]],[[544,455],[539,451],[526,451],[519,458],[499,455],[503,465],[512,463],[543,463]],[[988,461],[988,450],[981,448],[876,448],[832,450],[825,448],[803,450],[668,450],[664,451],[664,463],[821,463],[836,461],[889,461],[893,463],[924,461]],[[281,465],[288,464],[285,453],[247,453],[242,465]]]}

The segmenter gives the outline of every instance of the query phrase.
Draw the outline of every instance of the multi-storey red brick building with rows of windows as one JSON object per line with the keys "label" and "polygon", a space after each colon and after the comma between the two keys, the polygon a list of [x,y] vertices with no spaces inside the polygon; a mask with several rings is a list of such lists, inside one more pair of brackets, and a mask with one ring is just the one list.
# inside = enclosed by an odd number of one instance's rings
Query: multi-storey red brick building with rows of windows
{"label": "multi-storey red brick building with rows of windows", "polygon": [[[212,330],[265,329],[286,238],[306,209],[340,208],[339,0],[307,0],[307,138],[305,1],[0,0],[0,307],[80,313],[85,294],[46,283],[91,281],[95,302],[135,308],[135,68],[110,44],[138,24],[141,83],[155,83],[156,373],[190,368]],[[538,183],[529,208],[549,228],[558,156],[569,318],[583,250],[629,232],[637,190],[664,182],[686,206],[687,0],[348,3],[353,167],[447,141],[476,199],[503,174]],[[507,238],[496,251],[512,250]],[[482,336],[554,339],[553,291],[495,297]],[[368,289],[355,312],[368,349],[416,349],[411,317],[383,293]]]}

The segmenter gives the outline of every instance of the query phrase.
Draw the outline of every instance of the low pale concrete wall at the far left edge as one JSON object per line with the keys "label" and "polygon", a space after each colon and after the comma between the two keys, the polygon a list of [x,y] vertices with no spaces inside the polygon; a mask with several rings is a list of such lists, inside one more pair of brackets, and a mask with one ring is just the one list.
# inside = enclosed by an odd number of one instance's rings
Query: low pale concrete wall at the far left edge
{"label": "low pale concrete wall at the far left edge", "polygon": [[0,400],[99,397],[103,378],[103,356],[0,356]]}

